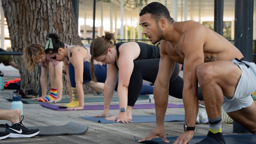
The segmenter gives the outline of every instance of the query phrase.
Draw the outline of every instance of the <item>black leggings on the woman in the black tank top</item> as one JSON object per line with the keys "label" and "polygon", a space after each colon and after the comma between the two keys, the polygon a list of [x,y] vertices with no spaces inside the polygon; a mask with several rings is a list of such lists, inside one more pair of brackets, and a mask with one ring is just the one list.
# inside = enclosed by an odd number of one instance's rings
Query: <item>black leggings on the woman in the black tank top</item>
{"label": "black leggings on the woman in the black tank top", "polygon": [[[130,83],[128,88],[128,105],[134,107],[137,101],[143,80],[154,83],[159,69],[160,59],[146,59],[134,61],[133,73],[130,77]],[[169,95],[182,98],[183,79],[178,76],[179,73],[178,63],[175,64],[173,75],[171,75],[169,81]],[[198,100],[203,100],[202,91],[198,88]]]}

